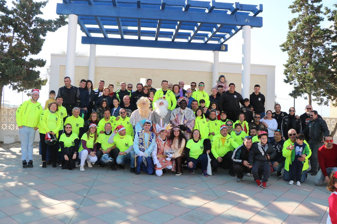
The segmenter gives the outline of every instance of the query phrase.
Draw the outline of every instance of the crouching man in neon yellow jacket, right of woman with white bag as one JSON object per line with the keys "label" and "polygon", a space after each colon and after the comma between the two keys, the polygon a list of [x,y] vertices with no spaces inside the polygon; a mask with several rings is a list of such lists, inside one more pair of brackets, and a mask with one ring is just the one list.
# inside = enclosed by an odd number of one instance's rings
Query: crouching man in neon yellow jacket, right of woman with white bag
{"label": "crouching man in neon yellow jacket, right of woman with white bag", "polygon": [[235,177],[233,169],[233,149],[239,147],[231,135],[228,135],[227,127],[221,125],[220,133],[215,135],[211,140],[211,155],[213,171],[217,172],[217,168],[222,162],[222,166],[229,165],[229,175]]}

